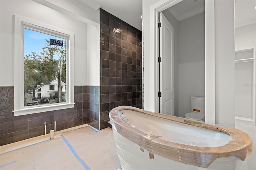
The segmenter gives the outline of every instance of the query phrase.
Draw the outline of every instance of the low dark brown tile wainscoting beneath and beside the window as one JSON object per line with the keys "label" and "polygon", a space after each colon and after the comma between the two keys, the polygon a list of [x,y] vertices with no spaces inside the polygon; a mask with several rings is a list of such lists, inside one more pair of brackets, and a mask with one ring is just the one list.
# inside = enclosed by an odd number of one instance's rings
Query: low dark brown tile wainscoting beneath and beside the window
{"label": "low dark brown tile wainscoting beneath and beside the window", "polygon": [[[75,86],[75,107],[14,116],[14,87],[0,87],[0,146],[88,123],[99,129],[99,86]],[[98,94],[98,95],[97,95]],[[96,104],[98,103],[98,104]]]}

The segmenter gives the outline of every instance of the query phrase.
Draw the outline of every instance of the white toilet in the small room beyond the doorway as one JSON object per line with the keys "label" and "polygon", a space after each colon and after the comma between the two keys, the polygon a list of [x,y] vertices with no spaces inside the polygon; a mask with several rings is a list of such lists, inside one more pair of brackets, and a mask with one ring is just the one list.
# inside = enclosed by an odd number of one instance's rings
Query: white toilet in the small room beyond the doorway
{"label": "white toilet in the small room beyond the doorway", "polygon": [[191,111],[185,117],[192,121],[205,121],[205,97],[190,97]]}

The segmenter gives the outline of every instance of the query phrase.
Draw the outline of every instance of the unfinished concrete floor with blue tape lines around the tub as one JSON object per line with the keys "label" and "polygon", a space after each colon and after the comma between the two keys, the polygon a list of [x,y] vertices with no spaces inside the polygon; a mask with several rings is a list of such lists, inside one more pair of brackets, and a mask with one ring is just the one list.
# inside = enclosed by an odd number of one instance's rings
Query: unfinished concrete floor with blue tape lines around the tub
{"label": "unfinished concrete floor with blue tape lines around the tub", "polygon": [[[236,123],[252,137],[253,152],[242,163],[244,170],[256,170],[256,126]],[[110,128],[97,131],[81,125],[0,147],[3,170],[117,170],[120,168]]]}

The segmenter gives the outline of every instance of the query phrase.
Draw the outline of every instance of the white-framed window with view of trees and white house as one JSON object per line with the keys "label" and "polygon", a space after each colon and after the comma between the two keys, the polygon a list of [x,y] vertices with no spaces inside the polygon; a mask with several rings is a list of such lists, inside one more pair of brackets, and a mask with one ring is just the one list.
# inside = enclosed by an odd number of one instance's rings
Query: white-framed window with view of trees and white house
{"label": "white-framed window with view of trees and white house", "polygon": [[[21,16],[14,18],[14,115],[74,107],[74,34]],[[50,99],[50,91],[56,100],[29,105],[32,98]]]}

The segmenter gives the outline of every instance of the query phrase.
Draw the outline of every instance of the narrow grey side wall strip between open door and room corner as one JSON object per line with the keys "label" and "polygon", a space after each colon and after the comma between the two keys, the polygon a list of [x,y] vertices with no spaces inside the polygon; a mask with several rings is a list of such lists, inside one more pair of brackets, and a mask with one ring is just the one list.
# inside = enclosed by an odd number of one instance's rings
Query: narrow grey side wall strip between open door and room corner
{"label": "narrow grey side wall strip between open door and room corner", "polygon": [[174,16],[168,10],[163,11],[164,16],[166,16],[167,20],[172,24],[174,28],[174,115],[178,116],[179,114],[179,72],[178,72],[178,20],[174,18]]}

